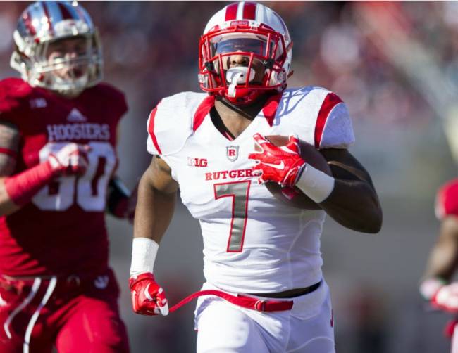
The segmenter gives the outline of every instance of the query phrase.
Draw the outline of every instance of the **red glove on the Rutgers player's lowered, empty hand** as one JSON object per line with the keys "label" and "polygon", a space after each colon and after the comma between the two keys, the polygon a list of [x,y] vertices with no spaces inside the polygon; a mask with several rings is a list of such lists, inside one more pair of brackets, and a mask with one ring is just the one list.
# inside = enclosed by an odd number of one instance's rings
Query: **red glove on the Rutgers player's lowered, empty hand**
{"label": "red glove on the Rutgers player's lowered, empty hand", "polygon": [[132,292],[132,308],[134,312],[142,315],[166,316],[168,302],[163,289],[156,283],[154,275],[150,272],[132,276],[129,279],[129,288]]}

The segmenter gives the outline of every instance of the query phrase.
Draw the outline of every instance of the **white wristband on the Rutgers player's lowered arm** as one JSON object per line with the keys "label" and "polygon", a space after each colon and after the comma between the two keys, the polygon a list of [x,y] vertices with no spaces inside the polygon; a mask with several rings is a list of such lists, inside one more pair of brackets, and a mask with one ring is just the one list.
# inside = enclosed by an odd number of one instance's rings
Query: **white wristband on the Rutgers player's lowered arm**
{"label": "white wristband on the Rutgers player's lowered arm", "polygon": [[149,238],[134,238],[132,241],[132,262],[130,276],[137,276],[145,272],[153,273],[159,244]]}

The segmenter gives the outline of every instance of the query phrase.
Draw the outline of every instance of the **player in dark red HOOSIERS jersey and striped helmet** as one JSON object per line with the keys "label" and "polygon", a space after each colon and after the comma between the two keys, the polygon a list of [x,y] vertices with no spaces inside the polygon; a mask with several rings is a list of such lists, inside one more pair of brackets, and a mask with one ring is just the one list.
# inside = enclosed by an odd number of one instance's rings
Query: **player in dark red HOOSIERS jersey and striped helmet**
{"label": "player in dark red HOOSIERS jersey and striped helmet", "polygon": [[105,210],[128,217],[115,177],[127,110],[102,84],[97,30],[74,2],[37,1],[0,82],[0,352],[128,352],[108,266]]}

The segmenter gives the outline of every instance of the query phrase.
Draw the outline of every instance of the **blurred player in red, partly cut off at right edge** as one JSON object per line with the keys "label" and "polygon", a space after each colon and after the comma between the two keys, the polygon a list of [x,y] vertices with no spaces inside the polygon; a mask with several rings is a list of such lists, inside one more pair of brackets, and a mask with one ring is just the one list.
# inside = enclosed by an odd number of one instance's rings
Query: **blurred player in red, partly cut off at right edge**
{"label": "blurred player in red, partly cut off at right edge", "polygon": [[[420,293],[433,307],[458,314],[458,283],[452,281],[458,265],[458,179],[439,189],[435,214],[440,220],[440,231],[429,255]],[[457,322],[448,326],[453,335],[452,352],[458,352]]]}

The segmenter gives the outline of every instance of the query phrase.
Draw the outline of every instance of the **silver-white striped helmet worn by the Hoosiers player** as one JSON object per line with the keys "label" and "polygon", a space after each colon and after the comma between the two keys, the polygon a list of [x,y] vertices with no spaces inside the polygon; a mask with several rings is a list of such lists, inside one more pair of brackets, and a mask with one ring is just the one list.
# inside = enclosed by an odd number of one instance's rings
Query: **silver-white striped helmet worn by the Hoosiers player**
{"label": "silver-white striped helmet worn by the Hoosiers player", "polygon": [[[85,39],[85,53],[47,59],[49,44],[61,39]],[[37,1],[20,15],[13,34],[16,44],[10,65],[32,86],[42,86],[64,96],[77,96],[102,77],[101,45],[87,11],[73,1]],[[78,74],[61,77],[57,70],[78,68]],[[69,70],[73,72],[73,70]]]}

